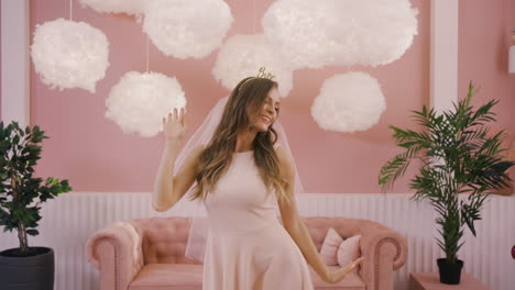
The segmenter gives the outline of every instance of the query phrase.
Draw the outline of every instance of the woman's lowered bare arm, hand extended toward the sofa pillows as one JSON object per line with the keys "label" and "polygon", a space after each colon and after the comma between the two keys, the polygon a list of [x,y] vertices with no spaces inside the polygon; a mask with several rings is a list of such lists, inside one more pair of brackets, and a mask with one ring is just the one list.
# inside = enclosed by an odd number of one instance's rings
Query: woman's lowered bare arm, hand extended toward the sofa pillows
{"label": "woman's lowered bare arm, hand extended toward the sofa pillows", "polygon": [[[293,164],[293,157],[287,155],[287,152],[283,147],[277,148],[277,156],[280,159],[281,172],[286,178],[289,185],[295,185],[295,168]],[[284,228],[288,232],[292,238],[297,244],[298,248],[304,255],[306,261],[311,265],[313,269],[320,276],[320,278],[327,282],[338,282],[342,280],[346,275],[354,267],[357,267],[363,259],[359,258],[354,263],[340,268],[336,271],[329,271],[326,264],[318,254],[317,247],[313,243],[311,236],[306,225],[300,221],[297,204],[295,202],[295,192],[293,187],[287,192],[291,198],[291,202],[286,203],[278,201],[281,216],[283,220]]]}

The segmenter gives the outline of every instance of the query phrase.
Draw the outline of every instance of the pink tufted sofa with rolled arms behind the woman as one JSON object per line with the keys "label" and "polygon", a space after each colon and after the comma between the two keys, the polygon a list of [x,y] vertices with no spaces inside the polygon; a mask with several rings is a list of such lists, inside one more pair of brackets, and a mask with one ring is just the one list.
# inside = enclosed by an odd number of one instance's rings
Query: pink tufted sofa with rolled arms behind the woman
{"label": "pink tufted sofa with rolled arms behind the woman", "polygon": [[[403,236],[371,221],[302,219],[318,250],[330,226],[343,237],[362,235],[365,261],[358,274],[332,285],[310,269],[315,289],[394,289],[394,270],[407,257]],[[201,289],[202,265],[184,256],[188,231],[187,217],[149,217],[118,222],[95,233],[87,242],[86,255],[100,271],[100,290]]]}

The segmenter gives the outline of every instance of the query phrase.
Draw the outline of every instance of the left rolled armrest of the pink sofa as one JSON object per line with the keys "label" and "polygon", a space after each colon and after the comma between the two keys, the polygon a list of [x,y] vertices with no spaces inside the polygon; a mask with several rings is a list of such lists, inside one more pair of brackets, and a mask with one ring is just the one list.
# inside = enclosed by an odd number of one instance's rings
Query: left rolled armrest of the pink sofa
{"label": "left rolled armrest of the pink sofa", "polygon": [[143,267],[142,237],[129,222],[117,222],[88,238],[86,256],[100,271],[100,290],[125,290]]}

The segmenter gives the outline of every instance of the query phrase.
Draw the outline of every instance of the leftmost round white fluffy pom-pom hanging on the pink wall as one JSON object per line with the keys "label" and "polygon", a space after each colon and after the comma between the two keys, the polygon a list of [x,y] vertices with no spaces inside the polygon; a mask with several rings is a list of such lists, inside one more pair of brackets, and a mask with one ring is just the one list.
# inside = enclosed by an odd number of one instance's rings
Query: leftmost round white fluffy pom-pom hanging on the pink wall
{"label": "leftmost round white fluffy pom-pom hanging on the pink wall", "polygon": [[34,69],[53,88],[96,91],[109,67],[109,42],[100,30],[64,19],[36,24],[31,46]]}

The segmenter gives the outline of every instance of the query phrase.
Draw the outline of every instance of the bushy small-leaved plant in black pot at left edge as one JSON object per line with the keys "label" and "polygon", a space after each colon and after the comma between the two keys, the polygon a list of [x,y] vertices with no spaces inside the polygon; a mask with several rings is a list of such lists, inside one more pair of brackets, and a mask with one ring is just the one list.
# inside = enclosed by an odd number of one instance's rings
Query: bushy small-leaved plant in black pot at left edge
{"label": "bushy small-leaved plant in black pot at left edge", "polygon": [[[0,122],[0,225],[3,232],[18,231],[20,246],[0,252],[0,286],[9,289],[54,289],[54,250],[29,246],[28,235],[39,235],[40,204],[70,191],[68,180],[33,177],[41,158],[37,144],[47,138],[39,126],[20,129]],[[24,288],[24,287],[28,288]]]}

